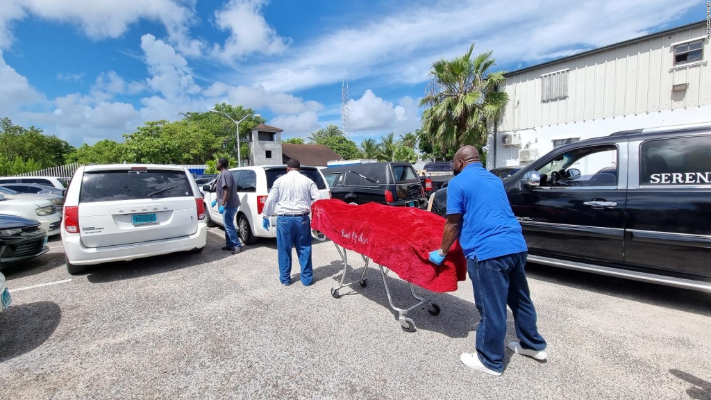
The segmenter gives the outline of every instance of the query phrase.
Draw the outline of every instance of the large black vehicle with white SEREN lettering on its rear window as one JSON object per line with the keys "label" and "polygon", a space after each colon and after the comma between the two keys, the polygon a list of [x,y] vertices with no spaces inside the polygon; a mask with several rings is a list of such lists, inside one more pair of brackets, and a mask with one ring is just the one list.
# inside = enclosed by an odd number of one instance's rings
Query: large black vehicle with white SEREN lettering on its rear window
{"label": "large black vehicle with white SEREN lettering on its rear window", "polygon": [[503,186],[530,262],[711,292],[711,123],[567,144]]}

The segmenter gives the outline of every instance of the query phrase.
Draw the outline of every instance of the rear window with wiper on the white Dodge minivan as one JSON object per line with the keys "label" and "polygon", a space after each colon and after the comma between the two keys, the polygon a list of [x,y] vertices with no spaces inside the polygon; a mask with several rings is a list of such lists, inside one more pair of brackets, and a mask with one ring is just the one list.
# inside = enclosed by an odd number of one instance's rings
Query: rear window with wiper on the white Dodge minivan
{"label": "rear window with wiper on the white Dodge minivan", "polygon": [[82,179],[80,202],[188,196],[193,196],[193,189],[185,172],[123,169],[85,173]]}

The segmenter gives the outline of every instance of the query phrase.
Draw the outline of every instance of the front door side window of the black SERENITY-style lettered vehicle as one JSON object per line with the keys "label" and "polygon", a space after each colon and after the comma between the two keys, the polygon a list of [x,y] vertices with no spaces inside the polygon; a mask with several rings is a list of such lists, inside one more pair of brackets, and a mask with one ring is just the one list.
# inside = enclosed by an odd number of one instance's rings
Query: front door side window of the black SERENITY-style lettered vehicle
{"label": "front door side window of the black SERENITY-style lettered vehicle", "polygon": [[572,149],[538,169],[540,186],[614,187],[618,176],[617,147]]}

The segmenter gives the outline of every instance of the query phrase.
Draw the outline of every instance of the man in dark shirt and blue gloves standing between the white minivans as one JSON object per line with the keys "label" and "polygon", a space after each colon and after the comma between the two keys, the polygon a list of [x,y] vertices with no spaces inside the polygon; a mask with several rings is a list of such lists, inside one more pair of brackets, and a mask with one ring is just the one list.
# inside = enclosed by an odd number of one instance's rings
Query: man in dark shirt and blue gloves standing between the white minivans
{"label": "man in dark shirt and blue gloves standing between the white minivans", "polygon": [[218,159],[218,179],[215,180],[215,191],[217,192],[217,199],[213,201],[211,206],[215,207],[218,203],[220,207],[218,212],[223,214],[223,224],[225,226],[225,241],[227,244],[223,247],[223,250],[232,251],[232,254],[237,254],[242,251],[242,244],[240,243],[240,238],[237,236],[237,229],[235,228],[235,216],[237,215],[237,209],[240,208],[240,197],[237,196],[237,185],[235,185],[235,177],[232,177],[232,172],[227,169],[230,162],[226,158]]}

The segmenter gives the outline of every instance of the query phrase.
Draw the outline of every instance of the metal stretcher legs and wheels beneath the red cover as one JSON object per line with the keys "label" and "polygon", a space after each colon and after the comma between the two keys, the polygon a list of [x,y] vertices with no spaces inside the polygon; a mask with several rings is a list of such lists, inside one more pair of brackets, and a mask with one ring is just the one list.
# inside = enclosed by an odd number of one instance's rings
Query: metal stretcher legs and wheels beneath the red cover
{"label": "metal stretcher legs and wheels beneath the red cover", "polygon": [[[311,231],[311,236],[314,238],[318,239],[319,241],[325,241],[326,237],[324,236],[323,233],[319,231]],[[348,270],[348,254],[346,253],[346,248],[343,246],[338,246],[338,243],[333,242],[333,245],[336,246],[336,251],[338,251],[338,255],[341,256],[341,260],[343,260],[343,271],[341,272],[341,279],[338,280],[338,285],[336,287],[331,288],[331,296],[333,298],[341,298],[341,294],[338,293],[338,290],[341,290],[342,288],[346,288],[346,286],[351,286],[355,283],[358,283],[361,288],[366,288],[368,287],[368,278],[365,278],[365,273],[368,272],[368,264],[370,263],[370,258],[367,256],[364,256],[363,254],[360,254],[360,257],[363,258],[363,261],[365,262],[365,266],[363,267],[363,272],[360,273],[360,279],[358,280],[353,280],[353,282],[349,283],[343,283],[344,280],[346,280],[346,272]],[[353,269],[353,268],[351,268]],[[407,317],[407,312],[415,310],[415,308],[424,305],[427,308],[427,312],[429,312],[429,315],[432,316],[437,316],[439,315],[439,312],[441,311],[439,308],[439,305],[434,304],[433,302],[429,301],[427,298],[422,298],[417,293],[415,293],[415,285],[413,285],[411,282],[408,282],[408,285],[410,285],[410,293],[412,293],[412,297],[415,298],[415,300],[419,300],[416,302],[414,305],[407,307],[407,308],[400,308],[392,304],[392,295],[390,294],[390,286],[387,285],[387,274],[390,273],[390,269],[383,267],[383,265],[378,264],[378,269],[380,270],[380,278],[383,279],[383,286],[385,286],[385,294],[387,295],[387,302],[390,303],[390,308],[392,308],[393,311],[397,312],[398,317],[397,317],[397,322],[400,322],[400,327],[402,327],[402,330],[405,332],[415,332],[417,330],[417,326],[415,325],[415,321],[412,320],[412,318]]]}

